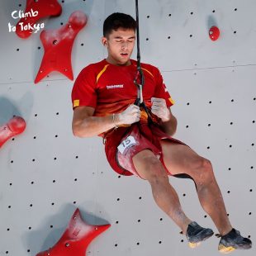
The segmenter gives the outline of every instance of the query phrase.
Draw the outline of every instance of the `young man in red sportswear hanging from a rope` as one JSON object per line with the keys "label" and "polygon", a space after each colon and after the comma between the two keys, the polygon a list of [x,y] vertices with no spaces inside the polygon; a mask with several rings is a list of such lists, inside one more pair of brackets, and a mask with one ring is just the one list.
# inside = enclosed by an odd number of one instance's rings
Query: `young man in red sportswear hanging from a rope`
{"label": "young man in red sportswear hanging from a rope", "polygon": [[213,231],[185,215],[168,175],[193,179],[201,206],[220,232],[220,252],[251,248],[251,241],[230,225],[211,162],[171,137],[177,119],[170,110],[173,100],[159,69],[141,64],[149,115],[134,104],[136,61],[130,55],[135,30],[135,20],[123,13],[113,13],[104,21],[102,44],[107,47],[107,59],[84,68],[73,85],[73,135],[101,135],[111,167],[148,181],[157,205],[183,230],[191,246],[209,238]]}

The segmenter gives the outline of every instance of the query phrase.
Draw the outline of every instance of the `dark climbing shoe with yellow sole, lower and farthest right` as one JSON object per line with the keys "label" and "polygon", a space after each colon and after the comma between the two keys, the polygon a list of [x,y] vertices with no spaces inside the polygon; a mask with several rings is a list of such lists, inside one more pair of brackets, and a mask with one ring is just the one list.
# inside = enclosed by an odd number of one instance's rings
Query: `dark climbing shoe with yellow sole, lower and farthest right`
{"label": "dark climbing shoe with yellow sole, lower and farthest right", "polygon": [[221,237],[219,243],[219,251],[222,254],[229,254],[235,249],[251,249],[252,241],[240,235],[238,230],[232,229],[226,235],[216,235]]}

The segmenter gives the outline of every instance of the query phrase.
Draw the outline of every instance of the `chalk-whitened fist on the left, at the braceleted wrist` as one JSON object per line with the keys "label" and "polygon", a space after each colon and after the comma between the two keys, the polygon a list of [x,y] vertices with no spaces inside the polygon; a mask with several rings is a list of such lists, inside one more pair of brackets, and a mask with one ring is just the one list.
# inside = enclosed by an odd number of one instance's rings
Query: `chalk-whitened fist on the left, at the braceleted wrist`
{"label": "chalk-whitened fist on the left, at the braceleted wrist", "polygon": [[115,123],[117,126],[131,125],[136,121],[140,121],[140,107],[131,104],[125,111],[116,114],[116,117]]}

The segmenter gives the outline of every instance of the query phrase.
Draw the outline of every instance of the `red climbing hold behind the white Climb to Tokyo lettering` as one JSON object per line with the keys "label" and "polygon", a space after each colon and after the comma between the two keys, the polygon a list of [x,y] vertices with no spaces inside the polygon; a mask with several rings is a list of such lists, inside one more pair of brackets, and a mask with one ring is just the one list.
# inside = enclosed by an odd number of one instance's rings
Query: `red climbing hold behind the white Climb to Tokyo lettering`
{"label": "red climbing hold behind the white Climb to Tokyo lettering", "polygon": [[59,16],[62,7],[57,0],[26,0],[26,9],[17,22],[16,33],[21,38],[31,36],[34,25],[41,18]]}

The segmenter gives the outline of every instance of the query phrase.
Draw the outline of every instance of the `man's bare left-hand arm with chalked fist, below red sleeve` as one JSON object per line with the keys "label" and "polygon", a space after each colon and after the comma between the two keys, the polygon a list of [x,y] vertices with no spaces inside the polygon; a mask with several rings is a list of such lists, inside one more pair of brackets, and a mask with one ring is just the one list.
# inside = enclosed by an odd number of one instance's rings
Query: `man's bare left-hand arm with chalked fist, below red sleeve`
{"label": "man's bare left-hand arm with chalked fist, below red sleeve", "polygon": [[140,120],[140,108],[130,105],[119,114],[93,116],[93,107],[75,107],[73,110],[73,135],[84,138],[92,137],[116,126],[130,125]]}

